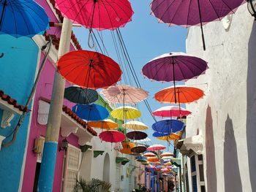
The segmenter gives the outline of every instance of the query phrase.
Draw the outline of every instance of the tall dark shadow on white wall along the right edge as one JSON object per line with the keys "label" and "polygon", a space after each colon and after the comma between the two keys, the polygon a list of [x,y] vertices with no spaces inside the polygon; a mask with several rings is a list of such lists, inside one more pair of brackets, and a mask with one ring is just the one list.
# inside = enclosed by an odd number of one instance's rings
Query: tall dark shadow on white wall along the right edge
{"label": "tall dark shadow on white wall along the right edge", "polygon": [[[256,21],[255,21],[256,22]],[[247,71],[247,117],[246,138],[249,162],[249,177],[252,191],[256,191],[256,23],[252,26],[252,33],[248,45]]]}

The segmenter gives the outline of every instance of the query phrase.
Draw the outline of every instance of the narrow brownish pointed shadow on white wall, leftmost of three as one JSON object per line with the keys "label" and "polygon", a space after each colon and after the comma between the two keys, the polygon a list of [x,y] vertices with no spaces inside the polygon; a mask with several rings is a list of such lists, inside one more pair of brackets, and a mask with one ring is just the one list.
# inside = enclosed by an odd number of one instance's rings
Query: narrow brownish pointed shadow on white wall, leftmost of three
{"label": "narrow brownish pointed shadow on white wall, leftmost of three", "polygon": [[217,173],[215,162],[214,128],[211,116],[211,107],[206,110],[206,177],[207,191],[217,191]]}

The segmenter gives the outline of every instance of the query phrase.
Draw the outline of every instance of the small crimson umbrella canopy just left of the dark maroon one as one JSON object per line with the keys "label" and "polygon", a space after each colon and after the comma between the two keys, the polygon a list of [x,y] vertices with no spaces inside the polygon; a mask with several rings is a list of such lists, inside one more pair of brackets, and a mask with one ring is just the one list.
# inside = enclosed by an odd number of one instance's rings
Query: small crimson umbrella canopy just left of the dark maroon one
{"label": "small crimson umbrella canopy just left of the dark maroon one", "polygon": [[99,134],[99,139],[105,142],[123,142],[125,140],[125,135],[119,131],[110,130],[110,131],[102,131]]}

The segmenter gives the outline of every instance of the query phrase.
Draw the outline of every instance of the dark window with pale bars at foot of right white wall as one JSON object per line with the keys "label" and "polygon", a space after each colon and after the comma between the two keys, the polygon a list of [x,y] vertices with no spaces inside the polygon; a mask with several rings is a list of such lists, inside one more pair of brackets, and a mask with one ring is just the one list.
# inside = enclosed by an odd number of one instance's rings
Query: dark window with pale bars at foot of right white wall
{"label": "dark window with pale bars at foot of right white wall", "polygon": [[192,192],[205,192],[205,182],[203,174],[203,155],[192,155],[190,158],[190,168],[192,177]]}

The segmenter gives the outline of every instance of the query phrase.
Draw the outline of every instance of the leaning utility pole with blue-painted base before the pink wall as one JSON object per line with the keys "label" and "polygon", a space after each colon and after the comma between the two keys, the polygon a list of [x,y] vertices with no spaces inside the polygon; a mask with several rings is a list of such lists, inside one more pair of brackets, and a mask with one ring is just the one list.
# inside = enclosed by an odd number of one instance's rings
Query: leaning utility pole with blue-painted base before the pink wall
{"label": "leaning utility pole with blue-painted base before the pink wall", "polygon": [[[61,39],[59,42],[58,58],[69,52],[72,23],[64,18],[61,28]],[[42,163],[39,173],[37,191],[53,191],[54,170],[59,140],[59,129],[61,125],[61,113],[64,99],[65,80],[61,74],[55,72],[53,92],[50,101],[50,111],[46,129],[45,145],[42,153]]]}

